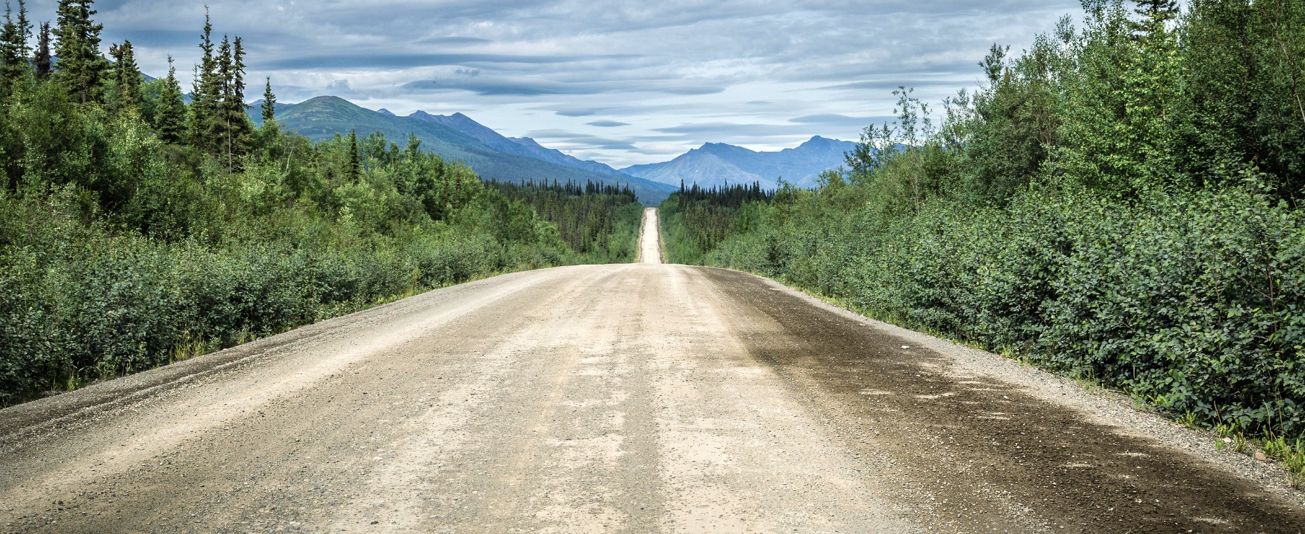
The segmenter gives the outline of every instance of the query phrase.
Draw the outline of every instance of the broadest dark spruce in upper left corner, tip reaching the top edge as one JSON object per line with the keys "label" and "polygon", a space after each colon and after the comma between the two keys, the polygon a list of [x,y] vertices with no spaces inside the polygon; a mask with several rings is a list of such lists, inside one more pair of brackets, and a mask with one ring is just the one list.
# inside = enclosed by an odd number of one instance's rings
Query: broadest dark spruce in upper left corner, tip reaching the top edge
{"label": "broadest dark spruce in upper left corner, tip reaching the top edge", "polygon": [[99,52],[99,33],[104,25],[91,21],[94,0],[59,0],[55,26],[55,56],[59,57],[55,78],[68,87],[74,100],[100,100],[100,83],[108,60]]}

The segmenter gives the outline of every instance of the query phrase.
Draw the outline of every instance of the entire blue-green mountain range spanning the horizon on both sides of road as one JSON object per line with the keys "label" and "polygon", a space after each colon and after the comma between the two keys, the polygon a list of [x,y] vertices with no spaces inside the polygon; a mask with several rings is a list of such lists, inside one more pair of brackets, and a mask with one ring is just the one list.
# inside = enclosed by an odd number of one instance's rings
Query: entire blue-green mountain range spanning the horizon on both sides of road
{"label": "entire blue-green mountain range spanning the horizon on both sides of road", "polygon": [[[251,104],[249,115],[261,122],[262,102]],[[628,184],[645,204],[656,204],[684,184],[701,186],[761,182],[773,189],[779,177],[799,185],[814,184],[816,176],[843,163],[843,152],[855,143],[813,137],[796,148],[757,152],[726,143],[706,143],[679,158],[654,164],[613,169],[548,148],[529,137],[505,137],[462,113],[431,115],[424,111],[397,116],[388,109],[367,109],[338,96],[317,96],[298,104],[277,103],[277,122],[313,141],[337,133],[381,132],[388,139],[406,143],[411,133],[422,148],[461,160],[483,178],[501,181],[595,181]]]}

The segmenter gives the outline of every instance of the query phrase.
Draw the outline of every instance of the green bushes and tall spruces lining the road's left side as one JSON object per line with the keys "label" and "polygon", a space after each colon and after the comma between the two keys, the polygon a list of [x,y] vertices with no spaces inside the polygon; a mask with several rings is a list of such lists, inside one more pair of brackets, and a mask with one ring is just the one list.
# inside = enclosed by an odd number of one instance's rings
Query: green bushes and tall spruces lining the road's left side
{"label": "green bushes and tall spruces lining the road's left side", "polygon": [[60,0],[39,31],[17,5],[0,27],[0,405],[476,276],[628,255],[568,247],[415,138],[284,132],[270,81],[254,128],[240,38],[204,29],[185,104],[129,42],[100,55],[90,0]]}

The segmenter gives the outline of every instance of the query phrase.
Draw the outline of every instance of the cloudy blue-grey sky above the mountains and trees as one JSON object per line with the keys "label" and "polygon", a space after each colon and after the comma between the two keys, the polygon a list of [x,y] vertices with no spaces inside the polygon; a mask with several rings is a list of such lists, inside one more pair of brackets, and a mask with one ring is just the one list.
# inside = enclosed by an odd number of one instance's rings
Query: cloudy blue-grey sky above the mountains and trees
{"label": "cloudy blue-grey sky above the mountains and trees", "polygon": [[[55,0],[31,0],[35,21]],[[180,4],[180,5],[179,5]],[[201,3],[100,0],[108,43],[189,87]],[[898,86],[940,103],[994,44],[1019,51],[1078,0],[209,0],[240,35],[249,99],[346,98],[398,115],[462,112],[510,137],[622,168],[724,142],[855,141]]]}

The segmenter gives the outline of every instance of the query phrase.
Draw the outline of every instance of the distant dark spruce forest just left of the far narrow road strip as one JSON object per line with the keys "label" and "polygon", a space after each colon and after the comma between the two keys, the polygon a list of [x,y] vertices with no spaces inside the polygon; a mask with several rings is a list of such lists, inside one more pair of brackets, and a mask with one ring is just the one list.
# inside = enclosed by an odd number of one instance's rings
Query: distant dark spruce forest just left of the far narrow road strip
{"label": "distant dark spruce forest just left of the far narrow road strip", "polygon": [[629,263],[639,240],[643,206],[629,186],[500,182],[489,185],[504,197],[521,201],[557,227],[562,242],[591,263]]}

